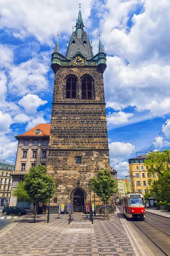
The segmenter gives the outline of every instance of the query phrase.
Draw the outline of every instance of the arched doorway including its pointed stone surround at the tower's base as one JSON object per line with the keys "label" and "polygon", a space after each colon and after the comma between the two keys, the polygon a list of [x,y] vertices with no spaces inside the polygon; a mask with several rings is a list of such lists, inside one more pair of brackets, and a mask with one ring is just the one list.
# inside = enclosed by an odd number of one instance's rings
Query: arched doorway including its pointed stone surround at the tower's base
{"label": "arched doorway including its pointed stone surround at the tower's base", "polygon": [[78,186],[72,190],[71,200],[73,202],[74,212],[84,212],[85,199],[86,199],[86,192],[82,187]]}

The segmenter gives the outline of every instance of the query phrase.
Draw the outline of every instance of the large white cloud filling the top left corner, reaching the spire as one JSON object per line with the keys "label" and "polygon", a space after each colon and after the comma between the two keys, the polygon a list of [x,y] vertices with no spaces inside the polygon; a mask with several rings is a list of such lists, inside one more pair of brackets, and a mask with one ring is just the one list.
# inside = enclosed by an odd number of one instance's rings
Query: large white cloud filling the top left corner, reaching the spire
{"label": "large white cloud filling the top left corner, reaching the spire", "polygon": [[[84,24],[89,24],[91,0],[86,0],[82,8]],[[33,35],[42,44],[51,44],[57,32],[70,33],[79,11],[79,2],[54,0],[1,0],[0,28],[12,33],[15,37],[25,38]],[[68,26],[70,24],[70,26]]]}

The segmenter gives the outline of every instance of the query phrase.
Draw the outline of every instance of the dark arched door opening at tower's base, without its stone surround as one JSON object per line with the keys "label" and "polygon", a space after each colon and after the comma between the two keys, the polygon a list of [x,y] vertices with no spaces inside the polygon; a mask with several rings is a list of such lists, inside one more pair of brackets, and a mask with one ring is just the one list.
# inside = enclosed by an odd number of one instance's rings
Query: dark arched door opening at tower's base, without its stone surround
{"label": "dark arched door opening at tower's base, without its stone surround", "polygon": [[82,190],[77,189],[74,192],[74,212],[84,212],[85,207],[85,195]]}

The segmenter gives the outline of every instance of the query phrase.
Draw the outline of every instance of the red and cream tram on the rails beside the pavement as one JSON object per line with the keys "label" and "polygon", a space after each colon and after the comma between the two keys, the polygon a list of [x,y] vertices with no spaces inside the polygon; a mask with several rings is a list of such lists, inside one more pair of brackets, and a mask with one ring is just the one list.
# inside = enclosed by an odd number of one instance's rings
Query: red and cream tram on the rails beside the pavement
{"label": "red and cream tram on the rails beside the pavement", "polygon": [[122,213],[127,218],[144,219],[144,197],[140,194],[127,194],[122,197]]}

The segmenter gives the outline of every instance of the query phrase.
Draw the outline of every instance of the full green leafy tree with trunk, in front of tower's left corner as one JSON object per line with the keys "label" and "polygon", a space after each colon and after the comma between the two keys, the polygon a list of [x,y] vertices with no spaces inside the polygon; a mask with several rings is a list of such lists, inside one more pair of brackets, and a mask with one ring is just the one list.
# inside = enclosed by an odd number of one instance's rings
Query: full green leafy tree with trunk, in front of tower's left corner
{"label": "full green leafy tree with trunk, in front of tower's left corner", "polygon": [[39,164],[30,169],[29,173],[24,176],[24,188],[29,195],[30,202],[35,203],[34,222],[37,216],[37,206],[39,202],[46,202],[49,198],[49,183],[51,186],[51,198],[54,196],[56,187],[53,178],[47,175],[45,166]]}

